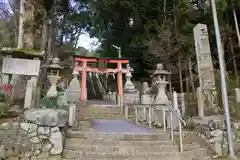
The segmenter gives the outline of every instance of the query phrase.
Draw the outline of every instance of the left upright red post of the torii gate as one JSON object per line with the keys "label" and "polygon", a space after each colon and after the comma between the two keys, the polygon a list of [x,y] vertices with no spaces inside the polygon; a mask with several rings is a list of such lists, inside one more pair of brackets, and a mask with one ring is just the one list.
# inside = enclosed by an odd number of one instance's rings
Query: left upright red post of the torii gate
{"label": "left upright red post of the torii gate", "polygon": [[87,61],[83,60],[82,61],[82,67],[83,67],[83,71],[82,71],[82,82],[81,82],[81,100],[82,101],[86,101],[86,87],[87,87],[87,72],[86,72],[86,68],[87,68]]}

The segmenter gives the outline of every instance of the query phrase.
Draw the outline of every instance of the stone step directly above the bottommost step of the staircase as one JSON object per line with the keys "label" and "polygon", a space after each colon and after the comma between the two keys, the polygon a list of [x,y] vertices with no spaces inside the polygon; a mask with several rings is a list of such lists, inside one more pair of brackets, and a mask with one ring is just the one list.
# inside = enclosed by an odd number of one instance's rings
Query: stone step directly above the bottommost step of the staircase
{"label": "stone step directly above the bottommost step of the staircase", "polygon": [[90,141],[67,139],[65,149],[91,152],[176,152],[178,147],[171,141]]}

